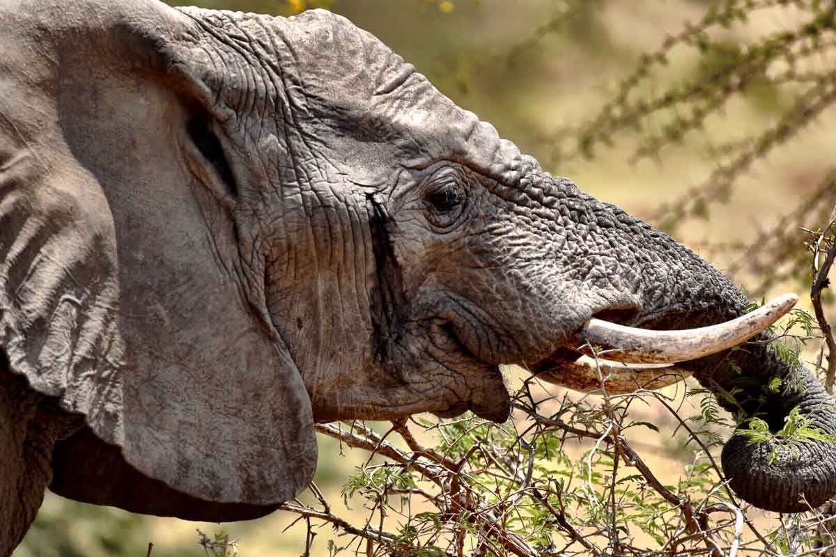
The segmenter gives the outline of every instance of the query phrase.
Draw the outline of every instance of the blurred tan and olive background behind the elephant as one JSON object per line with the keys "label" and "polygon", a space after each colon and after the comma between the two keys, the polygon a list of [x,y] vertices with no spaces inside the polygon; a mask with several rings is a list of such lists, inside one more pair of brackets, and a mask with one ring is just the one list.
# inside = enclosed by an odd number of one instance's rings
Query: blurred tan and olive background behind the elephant
{"label": "blurred tan and olive background behind the elephant", "polygon": [[[196,4],[283,16],[306,8],[341,13],[544,168],[668,230],[726,270],[752,298],[809,290],[809,237],[799,226],[827,225],[836,203],[836,119],[828,110],[836,99],[833,19],[823,20],[815,3]],[[652,408],[640,412],[657,418]],[[667,419],[657,423],[656,438],[645,435],[642,447],[654,455],[663,481],[674,483],[692,453],[670,438]],[[316,481],[338,503],[345,479],[368,455],[330,438],[321,438],[319,448]],[[362,524],[361,505],[340,504],[335,512]],[[244,556],[299,555],[303,524],[283,533],[293,519],[274,514],[222,528],[240,539]],[[196,528],[213,534],[221,527],[48,494],[14,555],[145,555],[153,542],[155,557],[197,557],[204,549],[196,544]],[[324,540],[333,534],[327,527],[320,534],[323,541],[312,554],[328,555]]]}

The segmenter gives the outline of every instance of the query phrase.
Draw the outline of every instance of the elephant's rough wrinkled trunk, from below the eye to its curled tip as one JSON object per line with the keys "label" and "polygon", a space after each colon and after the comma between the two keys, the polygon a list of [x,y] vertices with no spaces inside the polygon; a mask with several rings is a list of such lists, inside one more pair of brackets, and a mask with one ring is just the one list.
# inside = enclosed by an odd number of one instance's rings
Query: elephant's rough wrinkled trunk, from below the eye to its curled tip
{"label": "elephant's rough wrinkled trunk, from below the eye to its curled tip", "polygon": [[[745,313],[747,298],[742,291],[669,236],[614,205],[580,193],[571,183],[542,175],[532,181],[538,187],[525,189],[528,203],[536,205],[540,194],[545,208],[541,212],[550,217],[545,220],[569,240],[582,239],[558,243],[560,249],[550,255],[560,269],[568,270],[563,278],[584,284],[575,306],[590,316],[617,325],[674,331],[714,326]],[[781,430],[798,407],[804,418],[812,420],[808,427],[836,435],[833,398],[808,369],[793,371],[783,362],[769,346],[770,340],[761,333],[737,349],[677,367],[693,372],[726,410],[744,419],[762,418],[772,433]],[[553,360],[565,363],[565,354],[555,352],[530,368],[548,372]],[[568,378],[570,386],[583,387],[576,374],[557,375],[558,380]],[[781,387],[770,392],[776,377]],[[734,435],[722,452],[726,478],[742,499],[762,509],[798,512],[836,494],[836,444],[798,437],[749,441]]]}

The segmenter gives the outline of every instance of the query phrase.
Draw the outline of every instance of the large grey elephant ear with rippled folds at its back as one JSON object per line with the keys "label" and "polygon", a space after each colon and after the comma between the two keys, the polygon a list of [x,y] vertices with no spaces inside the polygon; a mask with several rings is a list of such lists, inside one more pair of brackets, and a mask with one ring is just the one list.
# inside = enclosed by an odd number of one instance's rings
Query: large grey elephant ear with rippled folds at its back
{"label": "large grey elephant ear with rippled folds at its back", "polygon": [[[211,502],[293,498],[316,465],[308,394],[234,199],[184,154],[229,117],[196,23],[151,0],[37,6],[0,13],[0,348],[120,449],[98,476],[113,501],[70,495],[118,504],[141,474]],[[57,468],[97,458],[65,449]]]}

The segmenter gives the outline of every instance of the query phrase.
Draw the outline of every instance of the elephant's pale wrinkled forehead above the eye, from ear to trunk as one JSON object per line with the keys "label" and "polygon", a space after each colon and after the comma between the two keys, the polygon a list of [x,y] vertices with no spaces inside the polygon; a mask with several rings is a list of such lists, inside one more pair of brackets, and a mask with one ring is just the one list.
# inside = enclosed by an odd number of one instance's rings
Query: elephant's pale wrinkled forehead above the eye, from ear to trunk
{"label": "elephant's pale wrinkled forehead above the eye, from ear to trunk", "polygon": [[[275,96],[275,103],[263,106],[284,109],[260,116],[274,116],[324,142],[337,159],[332,162],[376,175],[359,180],[380,183],[393,163],[421,168],[436,160],[461,162],[506,180],[520,159],[517,147],[500,139],[491,124],[456,106],[403,58],[346,18],[324,10],[294,18],[183,11],[205,27],[222,30],[215,35],[222,38],[222,48],[233,48],[252,71],[275,84],[262,84],[257,92],[233,91],[231,96]],[[230,67],[228,60],[225,64]],[[252,87],[245,78],[235,83],[229,75],[218,79],[227,91]],[[363,149],[357,149],[358,143]]]}

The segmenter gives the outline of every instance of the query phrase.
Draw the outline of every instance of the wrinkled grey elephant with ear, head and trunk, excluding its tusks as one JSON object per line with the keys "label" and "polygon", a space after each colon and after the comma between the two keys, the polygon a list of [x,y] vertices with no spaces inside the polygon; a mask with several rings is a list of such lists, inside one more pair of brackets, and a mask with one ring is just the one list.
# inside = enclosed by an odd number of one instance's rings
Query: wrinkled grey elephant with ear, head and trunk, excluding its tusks
{"label": "wrinkled grey elephant with ear, head and trunk, excluding its tusks", "polygon": [[[548,369],[590,316],[686,328],[745,303],[343,18],[0,2],[0,555],[47,486],[255,518],[308,484],[314,422],[501,422],[498,364]],[[800,403],[836,433],[806,370],[752,402],[788,372],[763,344],[686,367],[729,391],[732,362],[750,413]],[[770,450],[726,445],[744,499],[836,491],[832,447]]]}

